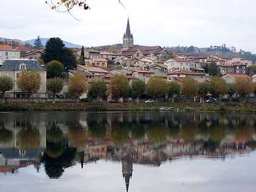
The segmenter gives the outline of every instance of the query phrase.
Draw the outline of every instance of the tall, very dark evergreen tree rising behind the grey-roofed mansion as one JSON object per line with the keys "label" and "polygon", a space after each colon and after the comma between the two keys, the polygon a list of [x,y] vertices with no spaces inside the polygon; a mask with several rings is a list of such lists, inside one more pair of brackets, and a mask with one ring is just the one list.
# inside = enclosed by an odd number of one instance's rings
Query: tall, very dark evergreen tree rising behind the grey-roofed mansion
{"label": "tall, very dark evergreen tree rising behind the grey-roofed mansion", "polygon": [[49,38],[46,42],[44,54],[41,56],[44,63],[57,60],[64,65],[64,68],[76,68],[76,58],[73,51],[65,48],[65,44],[59,37]]}

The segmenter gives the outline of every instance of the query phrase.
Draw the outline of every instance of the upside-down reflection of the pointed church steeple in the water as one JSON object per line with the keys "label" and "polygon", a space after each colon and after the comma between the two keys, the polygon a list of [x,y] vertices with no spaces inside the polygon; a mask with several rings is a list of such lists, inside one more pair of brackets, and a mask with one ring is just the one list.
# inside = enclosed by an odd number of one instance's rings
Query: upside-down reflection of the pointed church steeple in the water
{"label": "upside-down reflection of the pointed church steeple in the water", "polygon": [[132,178],[132,157],[131,155],[126,155],[122,157],[122,172],[123,178],[126,182],[126,191],[128,192],[130,178]]}

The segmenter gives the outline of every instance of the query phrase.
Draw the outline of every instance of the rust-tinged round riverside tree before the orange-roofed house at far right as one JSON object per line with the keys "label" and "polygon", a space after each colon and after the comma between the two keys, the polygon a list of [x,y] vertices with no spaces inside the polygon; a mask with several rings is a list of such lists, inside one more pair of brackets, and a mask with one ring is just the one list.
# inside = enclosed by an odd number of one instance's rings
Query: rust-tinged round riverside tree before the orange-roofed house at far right
{"label": "rust-tinged round riverside tree before the orange-roofed house at far right", "polygon": [[237,93],[241,97],[246,97],[254,92],[254,84],[251,79],[237,79],[236,82]]}

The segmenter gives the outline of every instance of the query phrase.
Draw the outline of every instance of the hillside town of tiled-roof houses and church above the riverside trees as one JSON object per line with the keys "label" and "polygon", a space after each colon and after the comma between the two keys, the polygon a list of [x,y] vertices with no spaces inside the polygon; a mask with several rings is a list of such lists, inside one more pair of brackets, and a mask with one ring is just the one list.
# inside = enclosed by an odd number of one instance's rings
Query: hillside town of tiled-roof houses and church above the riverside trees
{"label": "hillside town of tiled-roof houses and church above the riverside trees", "polygon": [[[11,77],[14,85],[12,90],[6,91],[5,98],[27,98],[27,93],[24,93],[17,84],[19,75],[24,69],[37,71],[41,77],[40,88],[37,93],[32,93],[32,98],[48,98],[46,84],[49,78],[47,78],[47,70],[44,67],[47,63],[42,60],[45,49],[27,48],[21,42],[21,40],[13,39],[0,41],[0,74]],[[221,77],[229,84],[237,80],[256,82],[256,75],[250,70],[251,66],[255,65],[252,60],[240,57],[228,58],[219,53],[183,55],[178,52],[169,52],[161,46],[134,46],[129,18],[126,32],[123,35],[123,48],[119,52],[97,51],[82,47],[74,52],[77,60],[81,58],[81,55],[83,55],[82,62],[77,62],[73,68],[65,66],[63,72],[67,73],[68,77],[83,74],[87,77],[89,85],[96,80],[104,80],[107,90],[99,101],[112,99],[125,101],[122,97],[119,98],[111,93],[110,80],[116,74],[126,76],[130,85],[134,80],[142,80],[144,84],[148,84],[151,77],[161,77],[166,82],[177,82],[180,85],[186,77],[191,77],[196,83],[207,82],[208,84],[214,76]],[[211,74],[211,68],[215,68],[216,73]],[[67,93],[68,81],[65,82],[58,95],[65,98]],[[236,94],[238,95],[239,93]],[[87,96],[88,91],[85,91],[79,98],[87,98]],[[254,91],[244,96],[252,97]],[[156,98],[152,95],[148,97]]]}

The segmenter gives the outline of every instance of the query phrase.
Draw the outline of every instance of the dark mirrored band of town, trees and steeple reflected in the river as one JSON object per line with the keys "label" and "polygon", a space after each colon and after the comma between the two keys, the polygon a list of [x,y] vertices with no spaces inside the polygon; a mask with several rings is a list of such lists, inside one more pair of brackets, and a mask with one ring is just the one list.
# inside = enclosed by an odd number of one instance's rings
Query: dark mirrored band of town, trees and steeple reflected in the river
{"label": "dark mirrored band of town, trees and steeple reflected in the river", "polygon": [[225,160],[255,149],[254,115],[183,112],[0,114],[0,172],[34,165],[51,179],[98,160],[120,162],[126,191],[133,165],[184,156]]}

